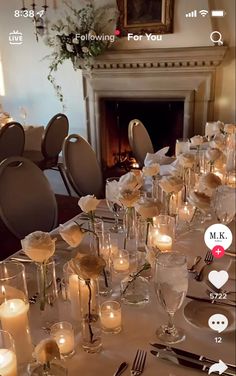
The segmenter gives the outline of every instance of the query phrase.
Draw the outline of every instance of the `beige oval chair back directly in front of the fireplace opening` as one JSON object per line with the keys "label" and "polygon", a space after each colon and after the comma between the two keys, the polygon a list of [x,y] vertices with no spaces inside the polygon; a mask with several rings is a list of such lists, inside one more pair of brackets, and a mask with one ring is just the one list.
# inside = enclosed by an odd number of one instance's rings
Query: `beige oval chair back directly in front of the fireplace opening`
{"label": "beige oval chair back directly in front of the fireplace opening", "polygon": [[148,131],[140,120],[134,119],[130,121],[128,138],[131,150],[139,163],[139,167],[143,167],[147,153],[154,153],[154,149]]}

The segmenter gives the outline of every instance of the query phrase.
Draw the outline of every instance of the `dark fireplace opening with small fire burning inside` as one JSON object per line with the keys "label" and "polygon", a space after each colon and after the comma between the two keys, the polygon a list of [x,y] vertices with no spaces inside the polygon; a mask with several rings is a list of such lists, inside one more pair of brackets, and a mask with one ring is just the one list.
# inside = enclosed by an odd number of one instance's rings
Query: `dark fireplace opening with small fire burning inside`
{"label": "dark fireplace opening with small fire burning inside", "polygon": [[184,99],[100,99],[101,156],[104,169],[138,167],[128,140],[128,125],[139,119],[146,127],[154,150],[170,146],[183,137]]}

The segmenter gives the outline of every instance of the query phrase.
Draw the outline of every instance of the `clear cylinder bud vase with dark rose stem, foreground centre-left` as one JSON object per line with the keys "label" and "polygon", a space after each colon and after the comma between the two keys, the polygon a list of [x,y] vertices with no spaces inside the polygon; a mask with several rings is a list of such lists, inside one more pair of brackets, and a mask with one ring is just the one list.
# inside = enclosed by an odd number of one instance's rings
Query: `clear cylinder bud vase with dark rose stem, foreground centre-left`
{"label": "clear cylinder bud vase with dark rose stem, foreground centre-left", "polygon": [[79,298],[82,323],[82,347],[88,353],[102,348],[99,318],[98,282],[79,278]]}

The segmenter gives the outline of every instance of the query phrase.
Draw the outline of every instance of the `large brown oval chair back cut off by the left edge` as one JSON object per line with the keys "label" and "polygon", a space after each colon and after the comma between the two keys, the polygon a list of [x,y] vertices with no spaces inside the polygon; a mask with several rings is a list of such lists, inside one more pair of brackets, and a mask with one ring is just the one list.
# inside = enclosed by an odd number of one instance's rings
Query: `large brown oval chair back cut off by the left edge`
{"label": "large brown oval chair back cut off by the left edge", "polygon": [[10,157],[0,163],[0,218],[18,239],[57,225],[57,203],[49,182],[26,158]]}

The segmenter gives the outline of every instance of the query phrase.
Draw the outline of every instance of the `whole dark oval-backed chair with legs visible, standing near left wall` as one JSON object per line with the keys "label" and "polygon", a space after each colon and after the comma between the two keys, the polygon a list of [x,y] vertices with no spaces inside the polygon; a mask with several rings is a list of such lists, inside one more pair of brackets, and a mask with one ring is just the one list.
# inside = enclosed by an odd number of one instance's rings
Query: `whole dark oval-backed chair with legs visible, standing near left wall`
{"label": "whole dark oval-backed chair with legs visible, standing near left wall", "polygon": [[59,154],[62,150],[62,144],[68,135],[69,121],[66,115],[56,114],[49,121],[41,144],[41,151],[26,150],[23,153],[25,158],[34,162],[41,170],[59,171],[63,183],[70,195],[70,188],[65,178],[63,164],[59,162]]}

